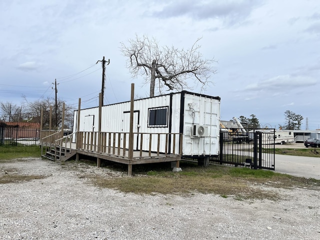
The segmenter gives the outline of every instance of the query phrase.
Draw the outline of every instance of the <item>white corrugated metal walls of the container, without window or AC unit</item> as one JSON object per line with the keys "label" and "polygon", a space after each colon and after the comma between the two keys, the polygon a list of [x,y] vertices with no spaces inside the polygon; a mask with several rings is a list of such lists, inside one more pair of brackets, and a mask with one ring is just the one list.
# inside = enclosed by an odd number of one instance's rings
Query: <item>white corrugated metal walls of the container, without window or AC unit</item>
{"label": "white corrugated metal walls of the container, without window or AC unit", "polygon": [[[183,131],[183,155],[216,155],[218,153],[218,136],[219,136],[219,116],[220,101],[216,97],[199,96],[198,94],[190,94],[185,92],[172,93],[172,113],[170,115],[170,94],[156,96],[134,101],[134,119],[133,132],[147,133],[168,133],[171,126],[171,132],[178,133],[180,124]],[[184,112],[181,113],[181,95]],[[167,107],[168,122],[165,127],[148,127],[149,108]],[[112,105],[102,106],[102,122],[101,131],[107,132],[128,132],[129,131],[129,111],[130,102],[122,102]],[[76,131],[76,114],[74,111],[73,131]],[[85,116],[94,115],[93,128],[91,124],[86,122]],[[183,121],[180,121],[180,116]],[[207,137],[191,137],[191,127],[193,124],[201,124],[208,126],[209,133]],[[80,112],[80,130],[94,131],[98,130],[98,107],[82,109]],[[152,136],[151,150],[157,150],[157,136]],[[176,136],[178,137],[178,136]],[[148,136],[143,138],[143,150],[149,147]],[[134,136],[135,146],[140,146],[139,137]],[[126,143],[128,146],[128,142]],[[173,137],[171,138],[171,151],[173,147]],[[165,150],[165,135],[161,135],[160,151]],[[175,146],[175,152],[178,152],[178,144]]]}

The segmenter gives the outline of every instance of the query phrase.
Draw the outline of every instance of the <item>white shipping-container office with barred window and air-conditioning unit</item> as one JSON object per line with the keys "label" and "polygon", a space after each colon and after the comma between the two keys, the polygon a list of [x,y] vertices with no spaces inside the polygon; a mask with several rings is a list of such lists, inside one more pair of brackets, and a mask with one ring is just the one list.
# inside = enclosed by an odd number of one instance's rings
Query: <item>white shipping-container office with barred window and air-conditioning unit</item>
{"label": "white shipping-container office with barred window and air-conditioning unit", "polygon": [[[218,155],[220,97],[181,91],[134,100],[133,109],[134,150],[140,150],[139,132],[182,133],[182,157]],[[129,116],[130,101],[102,106],[101,131],[129,132]],[[79,131],[97,131],[98,107],[81,109],[79,122]],[[77,110],[73,114],[73,132],[76,124]],[[165,151],[165,139],[162,141],[160,152]],[[148,147],[143,141],[142,150]],[[156,151],[157,145],[151,148]],[[178,152],[178,144],[175,148]]]}

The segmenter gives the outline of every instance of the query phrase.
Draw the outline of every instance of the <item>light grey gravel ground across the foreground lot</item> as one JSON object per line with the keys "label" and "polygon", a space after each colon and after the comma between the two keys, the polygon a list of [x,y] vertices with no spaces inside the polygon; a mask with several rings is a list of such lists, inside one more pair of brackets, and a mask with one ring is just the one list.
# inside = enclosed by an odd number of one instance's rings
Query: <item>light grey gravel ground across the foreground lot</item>
{"label": "light grey gravel ground across the foreground lot", "polygon": [[1,163],[0,174],[48,177],[0,184],[0,239],[320,239],[318,190],[268,188],[278,201],[136,195],[83,177],[124,172],[80,167],[39,158]]}

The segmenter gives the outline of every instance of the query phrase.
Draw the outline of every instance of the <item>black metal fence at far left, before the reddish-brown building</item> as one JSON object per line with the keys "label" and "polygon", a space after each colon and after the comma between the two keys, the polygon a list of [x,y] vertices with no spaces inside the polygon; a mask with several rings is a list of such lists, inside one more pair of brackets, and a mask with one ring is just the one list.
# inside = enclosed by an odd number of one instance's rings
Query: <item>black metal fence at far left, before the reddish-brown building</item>
{"label": "black metal fence at far left, before the reddish-brown building", "polygon": [[38,144],[39,129],[18,126],[0,126],[0,145]]}

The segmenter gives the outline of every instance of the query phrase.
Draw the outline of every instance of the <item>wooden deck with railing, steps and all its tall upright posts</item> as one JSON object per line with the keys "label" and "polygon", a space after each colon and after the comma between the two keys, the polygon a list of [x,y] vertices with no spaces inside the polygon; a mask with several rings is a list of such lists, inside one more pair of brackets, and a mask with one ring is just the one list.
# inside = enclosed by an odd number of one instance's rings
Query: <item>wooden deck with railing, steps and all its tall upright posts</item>
{"label": "wooden deck with railing, steps and all its tall upright posts", "polygon": [[[99,93],[99,113],[97,131],[81,131],[80,103],[78,104],[77,130],[63,136],[62,131],[52,132],[51,123],[49,130],[42,129],[43,109],[41,109],[40,145],[41,155],[50,159],[67,160],[75,155],[93,156],[100,166],[101,159],[127,164],[128,175],[132,173],[132,165],[153,162],[173,161],[179,167],[182,154],[182,133],[150,133],[133,132],[133,101],[134,84],[131,83],[130,98],[130,125],[129,132],[102,132],[101,131],[101,107],[102,95]],[[51,114],[51,108],[50,108]],[[64,102],[62,106],[62,121],[64,125]],[[45,149],[45,154],[43,152]]]}

